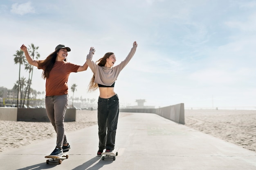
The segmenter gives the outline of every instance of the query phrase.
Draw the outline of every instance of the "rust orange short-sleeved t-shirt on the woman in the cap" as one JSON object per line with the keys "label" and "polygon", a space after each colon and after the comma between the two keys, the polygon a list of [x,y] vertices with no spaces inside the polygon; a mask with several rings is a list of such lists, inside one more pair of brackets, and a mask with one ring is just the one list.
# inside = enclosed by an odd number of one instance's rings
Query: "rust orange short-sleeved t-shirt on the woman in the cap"
{"label": "rust orange short-sleeved t-shirt on the woman in the cap", "polygon": [[[45,83],[45,96],[59,96],[68,93],[67,80],[71,72],[80,66],[65,61],[55,61]],[[40,68],[38,68],[40,69]]]}

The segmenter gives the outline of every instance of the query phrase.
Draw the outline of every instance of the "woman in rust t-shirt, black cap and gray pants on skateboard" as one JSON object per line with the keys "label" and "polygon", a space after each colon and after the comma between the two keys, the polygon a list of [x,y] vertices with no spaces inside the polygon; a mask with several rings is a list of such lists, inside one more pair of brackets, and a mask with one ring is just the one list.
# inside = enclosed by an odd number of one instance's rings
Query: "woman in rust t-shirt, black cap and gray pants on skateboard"
{"label": "woman in rust t-shirt, black cap and gray pants on skateboard", "polygon": [[67,80],[71,72],[81,72],[88,68],[85,62],[83,66],[67,62],[67,52],[69,47],[60,44],[56,46],[54,52],[49,54],[45,60],[34,60],[30,57],[27,47],[22,44],[20,49],[25,53],[29,64],[43,69],[45,83],[45,108],[47,116],[54,126],[57,133],[57,142],[52,156],[61,157],[63,152],[70,149],[66,135],[64,133],[64,117],[68,105],[68,86]]}

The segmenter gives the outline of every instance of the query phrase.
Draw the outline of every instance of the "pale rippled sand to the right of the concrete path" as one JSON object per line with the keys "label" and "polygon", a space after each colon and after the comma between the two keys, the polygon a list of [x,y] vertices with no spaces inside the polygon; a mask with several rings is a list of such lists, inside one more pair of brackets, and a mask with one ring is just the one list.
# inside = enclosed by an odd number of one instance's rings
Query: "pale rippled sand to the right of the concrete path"
{"label": "pale rippled sand to the right of the concrete path", "polygon": [[256,152],[256,111],[185,110],[185,124]]}

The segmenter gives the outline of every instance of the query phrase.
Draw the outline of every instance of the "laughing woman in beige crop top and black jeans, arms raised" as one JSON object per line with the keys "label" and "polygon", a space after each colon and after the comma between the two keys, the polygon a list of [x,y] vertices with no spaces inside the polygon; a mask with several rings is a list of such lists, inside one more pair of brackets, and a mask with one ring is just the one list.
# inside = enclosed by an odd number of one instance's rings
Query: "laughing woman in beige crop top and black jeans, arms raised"
{"label": "laughing woman in beige crop top and black jeans, arms raised", "polygon": [[[99,126],[99,150],[98,156],[101,156],[103,150],[112,152],[115,148],[115,136],[117,130],[117,121],[119,115],[119,98],[114,91],[115,81],[121,70],[132,59],[137,48],[137,42],[134,41],[132,49],[126,59],[116,65],[116,56],[113,52],[107,52],[96,63],[92,61],[95,49],[90,48],[86,62],[93,72],[93,77],[89,84],[89,91],[99,88],[98,99],[98,126]],[[115,65],[115,66],[114,66]]]}

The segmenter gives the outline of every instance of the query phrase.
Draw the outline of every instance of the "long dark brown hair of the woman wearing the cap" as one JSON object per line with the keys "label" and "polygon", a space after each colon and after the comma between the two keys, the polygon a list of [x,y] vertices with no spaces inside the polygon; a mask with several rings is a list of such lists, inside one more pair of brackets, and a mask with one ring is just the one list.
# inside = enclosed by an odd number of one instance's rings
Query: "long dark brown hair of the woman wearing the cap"
{"label": "long dark brown hair of the woman wearing the cap", "polygon": [[[58,50],[52,52],[51,54],[49,54],[48,57],[46,57],[45,60],[38,61],[38,68],[43,69],[43,73],[42,73],[43,79],[49,78],[50,71],[52,70],[52,68],[54,66],[54,63],[55,63],[56,58],[57,58],[57,52],[59,50],[60,49],[58,49]],[[65,59],[64,61],[67,61],[67,60]]]}

